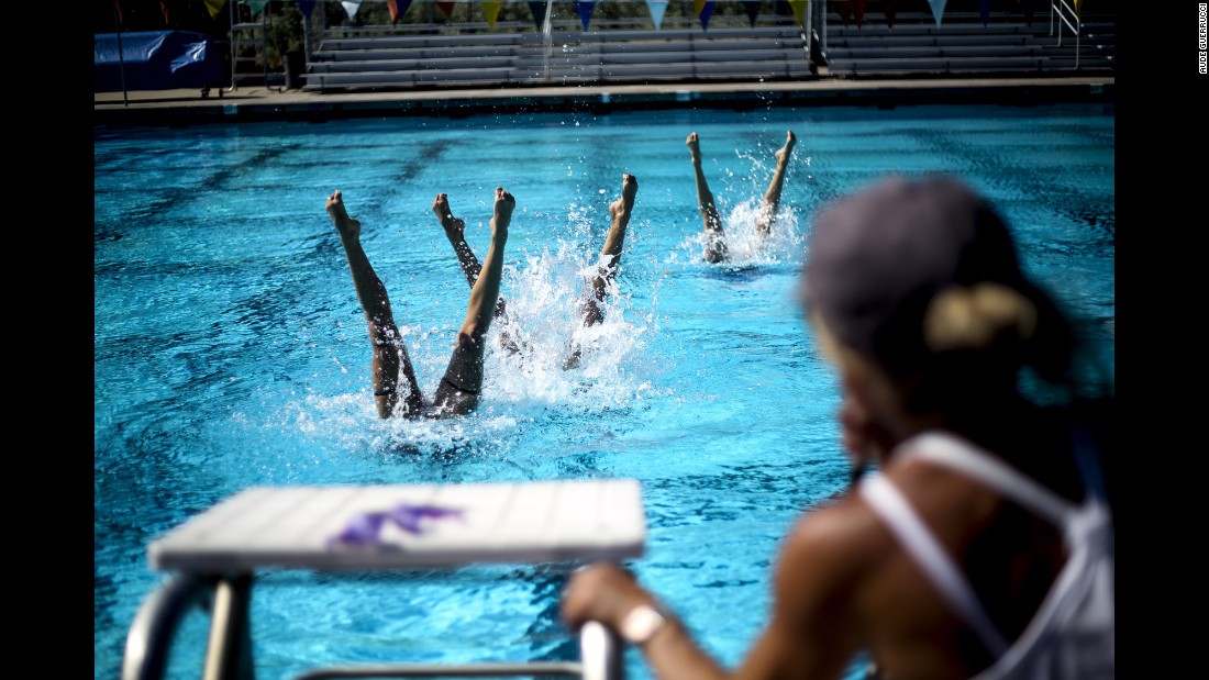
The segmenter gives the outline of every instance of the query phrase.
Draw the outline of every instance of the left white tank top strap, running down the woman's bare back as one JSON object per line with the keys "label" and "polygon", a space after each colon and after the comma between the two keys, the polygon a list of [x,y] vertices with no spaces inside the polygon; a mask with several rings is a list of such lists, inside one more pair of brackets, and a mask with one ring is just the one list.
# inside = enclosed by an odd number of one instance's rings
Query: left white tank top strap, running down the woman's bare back
{"label": "left white tank top strap, running down the woman's bare back", "polygon": [[944,599],[982,639],[996,658],[1008,649],[999,628],[987,616],[987,610],[974,594],[970,581],[956,568],[949,554],[919,518],[902,492],[883,475],[861,481],[861,498],[890,527],[903,548],[915,559]]}

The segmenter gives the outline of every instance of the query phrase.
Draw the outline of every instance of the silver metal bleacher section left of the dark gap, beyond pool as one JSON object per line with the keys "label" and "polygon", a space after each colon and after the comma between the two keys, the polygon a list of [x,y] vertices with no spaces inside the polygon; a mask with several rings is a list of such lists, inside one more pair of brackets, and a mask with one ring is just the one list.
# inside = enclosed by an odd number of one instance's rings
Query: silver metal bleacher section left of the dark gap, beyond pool
{"label": "silver metal bleacher section left of the dark gap, beyond pool", "polygon": [[559,25],[549,36],[532,24],[459,34],[331,29],[311,57],[303,89],[811,77],[802,27],[780,22],[708,30],[597,22],[592,30]]}

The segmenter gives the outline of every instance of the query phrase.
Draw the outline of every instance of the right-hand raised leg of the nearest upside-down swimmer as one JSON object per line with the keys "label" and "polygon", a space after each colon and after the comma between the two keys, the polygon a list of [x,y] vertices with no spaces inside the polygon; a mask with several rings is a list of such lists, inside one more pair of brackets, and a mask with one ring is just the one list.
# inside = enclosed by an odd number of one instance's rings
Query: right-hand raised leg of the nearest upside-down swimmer
{"label": "right-hand raised leg of the nearest upside-down swimmer", "polygon": [[482,338],[491,329],[496,304],[499,302],[499,284],[504,274],[504,245],[508,243],[508,226],[511,223],[515,207],[516,199],[513,194],[497,186],[491,217],[491,246],[470,287],[465,320],[458,331],[449,368],[436,387],[434,403],[442,414],[465,413],[479,403],[485,350]]}

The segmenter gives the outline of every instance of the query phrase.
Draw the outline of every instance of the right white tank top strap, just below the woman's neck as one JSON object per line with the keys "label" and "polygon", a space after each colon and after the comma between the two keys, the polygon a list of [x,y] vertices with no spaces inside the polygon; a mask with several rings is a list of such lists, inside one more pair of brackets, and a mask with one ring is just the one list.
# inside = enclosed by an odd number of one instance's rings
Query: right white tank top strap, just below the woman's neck
{"label": "right white tank top strap, just below the woman's neck", "polygon": [[1078,506],[1042,487],[987,451],[948,432],[920,432],[898,446],[896,458],[924,459],[962,472],[1065,528]]}

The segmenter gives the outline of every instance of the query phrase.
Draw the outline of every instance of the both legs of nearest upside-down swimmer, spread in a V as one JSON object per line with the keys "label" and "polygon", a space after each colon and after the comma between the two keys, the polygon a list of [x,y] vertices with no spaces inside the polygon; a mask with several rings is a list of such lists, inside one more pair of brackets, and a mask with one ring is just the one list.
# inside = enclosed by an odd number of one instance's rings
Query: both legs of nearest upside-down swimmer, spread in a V
{"label": "both legs of nearest upside-down swimmer, spread in a V", "polygon": [[[444,196],[439,194],[438,202]],[[435,209],[436,202],[433,205]],[[445,207],[447,205],[446,199]],[[407,356],[407,348],[403,344],[403,337],[394,322],[386,286],[361,249],[361,223],[348,216],[340,190],[328,197],[325,208],[340,233],[340,242],[348,257],[348,271],[357,289],[357,298],[361,303],[369,325],[370,343],[374,349],[370,365],[374,401],[377,403],[380,417],[389,418],[400,401],[404,414],[410,418],[422,414],[434,418],[457,415],[469,413],[479,405],[479,394],[482,390],[484,337],[497,314],[499,281],[504,268],[504,244],[508,242],[508,225],[511,222],[515,207],[516,199],[513,194],[496,187],[496,202],[491,216],[491,245],[472,284],[465,320],[458,330],[449,367],[436,385],[432,405],[426,406],[420,384],[416,382],[416,371]]]}

